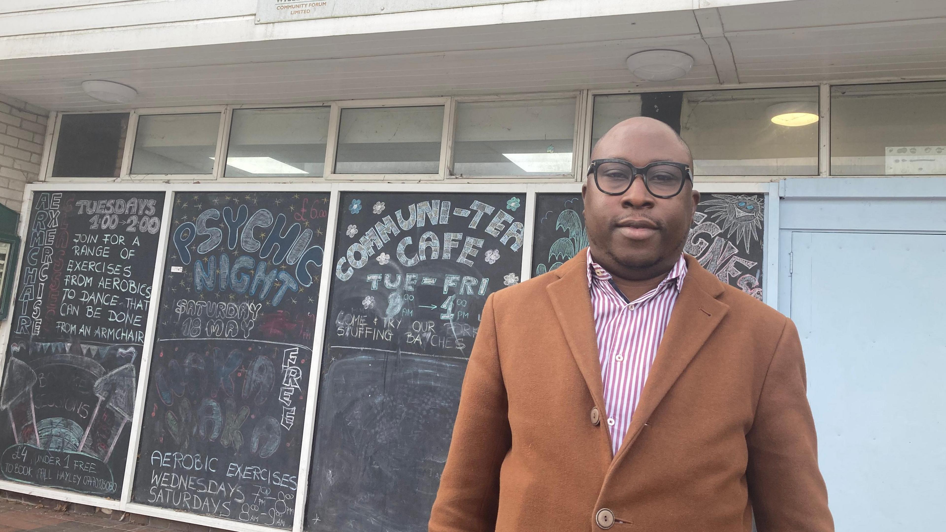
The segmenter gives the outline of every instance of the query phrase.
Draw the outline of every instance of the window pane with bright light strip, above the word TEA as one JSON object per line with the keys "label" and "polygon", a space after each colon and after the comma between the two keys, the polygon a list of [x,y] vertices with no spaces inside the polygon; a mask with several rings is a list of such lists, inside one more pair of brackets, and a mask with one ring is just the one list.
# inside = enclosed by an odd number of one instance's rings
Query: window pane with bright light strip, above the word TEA
{"label": "window pane with bright light strip, above the word TEA", "polygon": [[453,174],[570,174],[574,127],[574,98],[458,103]]}

